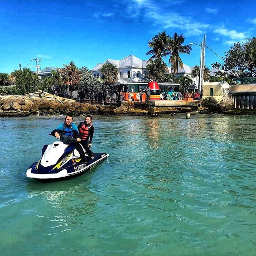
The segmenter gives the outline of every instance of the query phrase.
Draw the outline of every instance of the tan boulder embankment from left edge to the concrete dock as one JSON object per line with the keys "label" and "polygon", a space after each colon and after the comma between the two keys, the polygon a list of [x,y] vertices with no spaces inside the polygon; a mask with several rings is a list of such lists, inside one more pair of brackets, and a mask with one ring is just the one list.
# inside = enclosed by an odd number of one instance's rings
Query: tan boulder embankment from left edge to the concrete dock
{"label": "tan boulder embankment from left edge to the concrete dock", "polygon": [[[132,102],[131,102],[132,103]],[[0,95],[0,117],[57,116],[72,113],[80,115],[148,115],[149,111],[135,108],[133,104],[122,106],[102,106],[79,103],[48,92],[34,92],[26,95]]]}

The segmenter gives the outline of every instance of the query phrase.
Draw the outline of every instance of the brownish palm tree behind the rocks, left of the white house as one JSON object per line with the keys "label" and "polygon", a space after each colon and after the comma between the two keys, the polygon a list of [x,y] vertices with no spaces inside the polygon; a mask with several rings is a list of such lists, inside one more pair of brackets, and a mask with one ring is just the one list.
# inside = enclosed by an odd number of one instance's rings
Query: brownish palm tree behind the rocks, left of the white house
{"label": "brownish palm tree behind the rocks, left of the white house", "polygon": [[65,68],[60,68],[59,73],[62,77],[62,84],[71,87],[72,97],[73,90],[78,85],[80,80],[80,72],[75,63],[71,61],[68,65],[63,64]]}

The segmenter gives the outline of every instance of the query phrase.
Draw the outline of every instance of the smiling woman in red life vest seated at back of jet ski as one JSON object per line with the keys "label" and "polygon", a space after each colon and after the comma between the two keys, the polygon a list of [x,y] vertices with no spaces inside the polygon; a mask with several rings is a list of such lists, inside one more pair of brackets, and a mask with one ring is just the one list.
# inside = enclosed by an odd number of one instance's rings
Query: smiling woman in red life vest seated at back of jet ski
{"label": "smiling woman in red life vest seated at back of jet ski", "polygon": [[94,133],[94,127],[92,125],[92,116],[87,115],[85,120],[78,125],[78,130],[81,136],[80,143],[82,144],[85,152],[91,159],[93,159],[93,152],[90,149],[92,146],[92,138]]}

